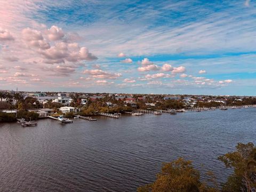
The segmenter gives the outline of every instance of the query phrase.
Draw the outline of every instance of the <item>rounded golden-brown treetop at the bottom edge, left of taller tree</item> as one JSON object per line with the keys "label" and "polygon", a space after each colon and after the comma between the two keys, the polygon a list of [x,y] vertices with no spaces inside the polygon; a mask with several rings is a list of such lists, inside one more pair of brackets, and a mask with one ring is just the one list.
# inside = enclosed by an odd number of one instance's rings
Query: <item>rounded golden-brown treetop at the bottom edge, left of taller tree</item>
{"label": "rounded golden-brown treetop at the bottom edge, left of taller tree", "polygon": [[200,173],[191,161],[179,158],[171,163],[164,163],[162,172],[157,174],[155,182],[139,187],[138,192],[215,192],[200,181]]}

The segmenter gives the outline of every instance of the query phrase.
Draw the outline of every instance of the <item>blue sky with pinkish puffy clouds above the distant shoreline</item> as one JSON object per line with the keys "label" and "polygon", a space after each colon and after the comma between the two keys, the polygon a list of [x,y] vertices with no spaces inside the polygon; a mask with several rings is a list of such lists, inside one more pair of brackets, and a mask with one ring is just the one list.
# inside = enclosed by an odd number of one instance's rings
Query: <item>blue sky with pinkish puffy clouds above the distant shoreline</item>
{"label": "blue sky with pinkish puffy clouds above the distant shoreline", "polygon": [[0,0],[0,89],[256,95],[256,2]]}

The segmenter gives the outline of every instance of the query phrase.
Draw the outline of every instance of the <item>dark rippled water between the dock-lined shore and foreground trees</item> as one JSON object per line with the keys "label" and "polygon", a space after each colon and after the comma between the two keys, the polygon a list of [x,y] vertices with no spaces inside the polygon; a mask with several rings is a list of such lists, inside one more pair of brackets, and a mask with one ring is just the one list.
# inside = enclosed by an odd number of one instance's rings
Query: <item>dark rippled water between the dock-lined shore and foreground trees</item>
{"label": "dark rippled water between the dock-lined shore and foreground trees", "polygon": [[225,181],[217,157],[255,143],[255,117],[249,108],[0,124],[0,191],[135,191],[180,156]]}

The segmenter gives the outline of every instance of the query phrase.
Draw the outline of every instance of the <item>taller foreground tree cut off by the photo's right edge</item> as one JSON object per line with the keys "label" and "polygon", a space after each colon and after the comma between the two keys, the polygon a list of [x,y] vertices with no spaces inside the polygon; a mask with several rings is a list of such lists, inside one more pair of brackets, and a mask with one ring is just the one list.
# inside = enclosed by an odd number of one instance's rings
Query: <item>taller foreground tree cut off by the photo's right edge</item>
{"label": "taller foreground tree cut off by the photo's right edge", "polygon": [[226,167],[234,169],[222,190],[224,192],[256,190],[256,147],[252,142],[238,143],[236,151],[218,158]]}

